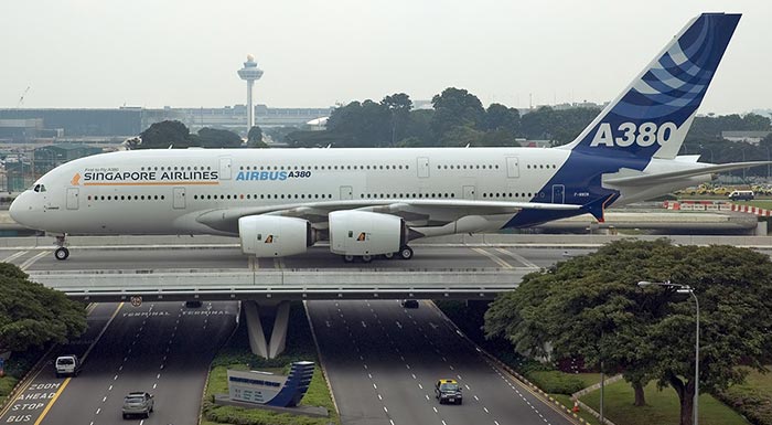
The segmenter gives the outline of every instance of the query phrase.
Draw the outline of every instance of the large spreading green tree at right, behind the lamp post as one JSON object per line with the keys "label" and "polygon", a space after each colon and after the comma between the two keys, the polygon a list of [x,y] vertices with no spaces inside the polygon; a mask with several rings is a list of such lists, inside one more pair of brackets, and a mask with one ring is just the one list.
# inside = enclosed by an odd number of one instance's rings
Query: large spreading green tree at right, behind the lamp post
{"label": "large spreading green tree at right, behind the lamp post", "polygon": [[[636,393],[645,382],[671,385],[680,424],[691,423],[695,306],[639,280],[694,288],[700,300],[700,392],[742,382],[741,362],[763,370],[772,352],[772,262],[732,246],[674,246],[665,241],[615,242],[524,278],[485,316],[489,336],[504,336],[526,354],[582,355],[619,370]],[[547,350],[546,347],[551,347]],[[639,400],[636,394],[636,402]],[[640,404],[640,403],[636,403]]]}

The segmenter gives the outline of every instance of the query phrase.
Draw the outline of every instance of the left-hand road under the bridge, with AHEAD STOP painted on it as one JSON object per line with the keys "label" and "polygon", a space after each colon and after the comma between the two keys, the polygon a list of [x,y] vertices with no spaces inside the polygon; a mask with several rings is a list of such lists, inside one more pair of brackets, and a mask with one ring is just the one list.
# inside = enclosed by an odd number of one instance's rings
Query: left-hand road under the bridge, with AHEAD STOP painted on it
{"label": "left-hand road under the bridge, with AHEAD STOP painted on it", "polygon": [[[208,365],[233,331],[237,309],[237,302],[204,302],[195,309],[182,302],[97,305],[86,334],[51,353],[0,423],[121,423],[124,396],[131,391],[156,397],[154,413],[143,424],[197,423]],[[57,354],[87,351],[78,376],[54,376]]]}

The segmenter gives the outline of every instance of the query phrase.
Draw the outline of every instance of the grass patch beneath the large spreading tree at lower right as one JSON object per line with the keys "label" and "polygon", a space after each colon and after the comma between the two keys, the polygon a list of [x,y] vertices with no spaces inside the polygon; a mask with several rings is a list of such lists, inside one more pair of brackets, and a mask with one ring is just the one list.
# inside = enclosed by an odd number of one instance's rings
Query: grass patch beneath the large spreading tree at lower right
{"label": "grass patch beneath the large spreading tree at lower right", "polygon": [[[618,425],[678,425],[678,396],[675,390],[656,389],[656,384],[646,385],[646,406],[633,406],[633,389],[624,381],[605,386],[603,411],[605,416]],[[581,397],[594,410],[600,408],[600,391]],[[712,395],[699,396],[699,423],[701,425],[747,425],[746,419]]]}

